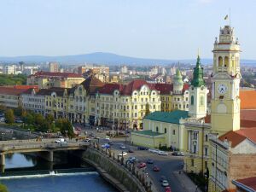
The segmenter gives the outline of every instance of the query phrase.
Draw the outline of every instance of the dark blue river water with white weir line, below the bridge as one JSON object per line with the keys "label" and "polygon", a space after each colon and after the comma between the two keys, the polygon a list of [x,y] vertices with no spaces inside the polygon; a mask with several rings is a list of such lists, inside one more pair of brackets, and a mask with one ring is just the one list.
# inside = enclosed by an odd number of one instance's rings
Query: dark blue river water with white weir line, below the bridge
{"label": "dark blue river water with white weir line, below the bridge", "polygon": [[0,183],[9,192],[117,192],[93,168],[80,165],[68,161],[49,172],[44,160],[27,154],[8,155]]}

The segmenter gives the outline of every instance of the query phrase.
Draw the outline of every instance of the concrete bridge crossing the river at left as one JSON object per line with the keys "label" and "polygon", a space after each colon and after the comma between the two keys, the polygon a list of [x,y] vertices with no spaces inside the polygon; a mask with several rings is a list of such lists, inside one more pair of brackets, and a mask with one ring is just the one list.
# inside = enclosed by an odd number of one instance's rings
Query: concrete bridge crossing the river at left
{"label": "concrete bridge crossing the river at left", "polygon": [[67,143],[55,143],[56,139],[36,139],[30,140],[15,140],[0,142],[0,167],[1,172],[4,172],[5,154],[14,153],[35,153],[38,152],[40,157],[49,162],[54,161],[55,151],[69,150],[85,150],[90,143],[68,141]]}

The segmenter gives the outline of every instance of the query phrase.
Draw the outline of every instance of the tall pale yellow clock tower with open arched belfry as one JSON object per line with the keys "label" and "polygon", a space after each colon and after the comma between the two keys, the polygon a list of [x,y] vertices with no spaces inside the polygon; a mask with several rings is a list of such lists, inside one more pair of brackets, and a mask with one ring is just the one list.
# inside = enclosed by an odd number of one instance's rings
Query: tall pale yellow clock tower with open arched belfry
{"label": "tall pale yellow clock tower with open arched belfry", "polygon": [[216,38],[212,66],[212,131],[223,135],[240,129],[240,44],[234,28],[220,28]]}

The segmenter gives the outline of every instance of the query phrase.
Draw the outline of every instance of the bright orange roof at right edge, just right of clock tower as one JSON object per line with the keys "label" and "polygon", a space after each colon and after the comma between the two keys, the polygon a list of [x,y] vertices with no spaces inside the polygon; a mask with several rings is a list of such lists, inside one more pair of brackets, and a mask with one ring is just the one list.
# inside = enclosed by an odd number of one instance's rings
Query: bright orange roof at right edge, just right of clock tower
{"label": "bright orange roof at right edge, just right of clock tower", "polygon": [[241,108],[256,109],[256,90],[240,90]]}

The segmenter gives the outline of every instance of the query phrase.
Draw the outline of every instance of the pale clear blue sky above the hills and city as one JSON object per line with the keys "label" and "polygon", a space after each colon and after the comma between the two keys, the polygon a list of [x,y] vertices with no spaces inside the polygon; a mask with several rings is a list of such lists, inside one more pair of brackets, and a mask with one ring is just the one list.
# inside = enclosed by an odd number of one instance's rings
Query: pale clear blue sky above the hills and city
{"label": "pale clear blue sky above the hills and city", "polygon": [[0,55],[212,58],[230,8],[241,57],[256,59],[255,0],[0,0]]}

